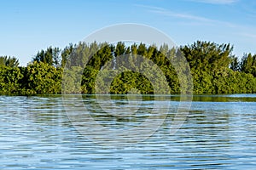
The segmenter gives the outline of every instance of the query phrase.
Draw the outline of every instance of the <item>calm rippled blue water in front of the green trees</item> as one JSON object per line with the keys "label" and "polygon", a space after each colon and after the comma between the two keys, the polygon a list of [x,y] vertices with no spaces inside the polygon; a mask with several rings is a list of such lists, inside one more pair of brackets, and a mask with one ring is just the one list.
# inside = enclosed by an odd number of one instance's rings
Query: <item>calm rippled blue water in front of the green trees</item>
{"label": "calm rippled blue water in front of the green trees", "polygon": [[[70,104],[65,108],[62,99],[0,96],[0,169],[256,168],[256,94],[194,96],[183,126],[170,135],[179,103],[179,96],[172,96],[170,110],[154,134],[119,146],[97,144],[100,139],[80,133],[67,112],[78,116],[83,107],[77,103],[82,103],[102,127],[127,132],[147,119],[153,97],[143,96],[133,103],[112,96],[115,105],[104,107],[119,111],[118,115],[104,114],[94,96],[71,95],[65,98]],[[164,108],[167,101],[158,102]],[[137,112],[131,114],[133,110]],[[78,116],[80,122],[83,117]],[[109,142],[111,134],[106,139]]]}

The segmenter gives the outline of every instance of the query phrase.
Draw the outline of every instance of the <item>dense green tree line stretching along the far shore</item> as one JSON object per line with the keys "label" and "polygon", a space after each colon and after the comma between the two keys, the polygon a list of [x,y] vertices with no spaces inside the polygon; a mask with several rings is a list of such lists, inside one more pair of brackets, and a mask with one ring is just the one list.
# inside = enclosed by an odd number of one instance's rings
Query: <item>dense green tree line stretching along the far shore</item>
{"label": "dense green tree line stretching along the far shore", "polygon": [[[161,94],[166,88],[180,94],[181,83],[189,80],[178,71],[192,75],[193,86],[186,83],[185,93],[256,93],[256,54],[239,59],[232,50],[230,44],[204,41],[178,50],[166,44],[157,48],[125,42],[49,47],[38,51],[27,66],[19,66],[15,57],[0,57],[0,94],[61,94],[63,89],[67,94]],[[175,62],[180,54],[189,68]]]}

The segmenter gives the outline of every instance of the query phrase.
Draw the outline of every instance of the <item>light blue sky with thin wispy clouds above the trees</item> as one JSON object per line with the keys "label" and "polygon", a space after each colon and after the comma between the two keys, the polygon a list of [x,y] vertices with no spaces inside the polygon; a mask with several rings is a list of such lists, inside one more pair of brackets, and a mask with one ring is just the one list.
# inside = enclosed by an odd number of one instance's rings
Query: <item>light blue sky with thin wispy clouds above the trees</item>
{"label": "light blue sky with thin wispy clouds above the trees", "polygon": [[0,56],[26,66],[41,49],[65,48],[106,26],[136,23],[180,45],[197,40],[256,54],[255,0],[0,0]]}

